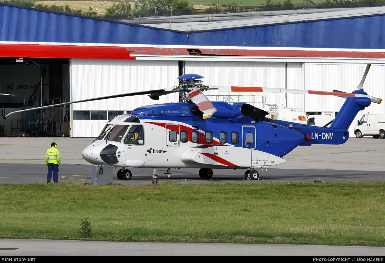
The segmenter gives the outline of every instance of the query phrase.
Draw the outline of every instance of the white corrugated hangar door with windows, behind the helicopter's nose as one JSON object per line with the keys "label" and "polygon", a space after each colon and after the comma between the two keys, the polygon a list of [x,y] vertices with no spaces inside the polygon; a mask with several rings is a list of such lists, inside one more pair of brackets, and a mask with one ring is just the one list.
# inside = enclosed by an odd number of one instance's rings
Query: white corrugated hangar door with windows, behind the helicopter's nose
{"label": "white corrugated hangar door with windows, behind the helicopter's nose", "polygon": [[[90,60],[70,62],[71,101],[156,90],[178,85],[177,61]],[[72,104],[71,136],[96,137],[109,117],[137,107],[177,102],[177,93],[151,100],[147,95]]]}

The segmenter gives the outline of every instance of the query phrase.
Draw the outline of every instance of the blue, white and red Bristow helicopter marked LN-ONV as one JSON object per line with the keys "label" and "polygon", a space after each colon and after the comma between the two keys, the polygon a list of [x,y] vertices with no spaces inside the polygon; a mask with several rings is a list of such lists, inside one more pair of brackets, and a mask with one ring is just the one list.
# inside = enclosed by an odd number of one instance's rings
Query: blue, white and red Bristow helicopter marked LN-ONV
{"label": "blue, white and red Bristow helicopter marked LN-ONV", "polygon": [[[82,151],[83,158],[93,165],[119,167],[117,177],[121,180],[131,179],[130,167],[167,168],[166,174],[171,168],[199,168],[201,178],[211,178],[213,169],[246,169],[245,179],[259,180],[257,168],[267,171],[268,167],[284,163],[283,156],[299,145],[337,145],[348,140],[348,128],[357,113],[372,102],[380,104],[382,101],[363,91],[369,68],[370,64],[352,93],[207,86],[202,84],[200,79],[204,77],[201,75],[185,74],[177,78],[179,85],[176,87],[26,110],[144,94],[159,100],[159,96],[178,92],[179,102],[143,106],[131,114],[111,118],[99,136]],[[333,95],[346,98],[346,101],[334,120],[316,127],[266,118],[268,112],[247,103],[210,102],[203,92],[213,89],[220,92]]]}

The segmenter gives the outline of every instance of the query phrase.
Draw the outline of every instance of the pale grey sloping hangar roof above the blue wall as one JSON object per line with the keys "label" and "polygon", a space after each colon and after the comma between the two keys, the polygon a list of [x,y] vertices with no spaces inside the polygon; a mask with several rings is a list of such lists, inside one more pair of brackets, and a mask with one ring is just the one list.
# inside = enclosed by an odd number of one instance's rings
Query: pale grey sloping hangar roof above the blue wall
{"label": "pale grey sloping hangar roof above the blue wall", "polygon": [[171,30],[194,32],[201,30],[215,30],[234,27],[250,27],[288,22],[304,22],[321,19],[336,19],[378,15],[385,13],[382,7],[361,8],[328,8],[328,9],[301,9],[276,10],[242,13],[221,13],[204,15],[180,15],[171,17],[145,17],[121,19],[118,21],[147,25],[150,27],[166,28]]}

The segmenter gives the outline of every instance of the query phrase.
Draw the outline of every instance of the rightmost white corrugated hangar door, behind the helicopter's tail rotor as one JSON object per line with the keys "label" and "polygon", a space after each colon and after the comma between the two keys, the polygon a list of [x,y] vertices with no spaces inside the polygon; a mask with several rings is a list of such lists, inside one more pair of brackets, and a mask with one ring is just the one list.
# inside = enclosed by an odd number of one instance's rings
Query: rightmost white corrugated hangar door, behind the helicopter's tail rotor
{"label": "rightmost white corrugated hangar door, behind the helicopter's tail rotor", "polygon": [[[366,63],[305,63],[305,89],[332,92],[339,90],[351,93],[357,89],[365,72]],[[385,98],[385,65],[372,64],[363,90],[377,98]],[[306,112],[339,112],[344,98],[335,96],[305,95]],[[364,113],[385,113],[384,108],[372,103],[365,110],[358,112],[355,120],[349,127],[350,137],[355,136],[353,128]],[[335,116],[332,116],[334,118]]]}

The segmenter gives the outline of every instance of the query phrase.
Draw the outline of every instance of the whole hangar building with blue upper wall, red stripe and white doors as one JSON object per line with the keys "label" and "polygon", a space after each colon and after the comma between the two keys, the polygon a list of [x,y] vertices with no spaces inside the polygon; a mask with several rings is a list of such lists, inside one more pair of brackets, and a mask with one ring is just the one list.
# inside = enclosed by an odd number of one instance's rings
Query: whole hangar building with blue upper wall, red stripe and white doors
{"label": "whole hangar building with blue upper wall, red stripe and white doors", "polygon": [[[0,112],[172,87],[184,73],[203,75],[206,85],[350,93],[367,63],[364,90],[385,98],[384,16],[385,7],[374,7],[110,21],[0,4],[0,93],[17,95],[0,96]],[[206,95],[333,117],[344,102],[297,94]],[[140,95],[14,113],[0,120],[0,135],[96,137],[112,116],[177,100],[176,93],[160,100]],[[385,113],[383,105],[367,110]]]}

